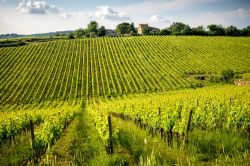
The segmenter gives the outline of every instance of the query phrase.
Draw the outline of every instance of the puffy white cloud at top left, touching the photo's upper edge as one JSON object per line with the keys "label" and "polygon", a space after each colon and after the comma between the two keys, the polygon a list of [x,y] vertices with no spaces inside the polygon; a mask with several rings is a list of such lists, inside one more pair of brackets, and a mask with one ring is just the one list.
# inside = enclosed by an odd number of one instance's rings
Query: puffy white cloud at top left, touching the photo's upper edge
{"label": "puffy white cloud at top left, touching the photo's upper edge", "polygon": [[48,4],[45,1],[22,0],[17,7],[23,13],[29,14],[48,14],[59,13],[60,9],[55,5]]}

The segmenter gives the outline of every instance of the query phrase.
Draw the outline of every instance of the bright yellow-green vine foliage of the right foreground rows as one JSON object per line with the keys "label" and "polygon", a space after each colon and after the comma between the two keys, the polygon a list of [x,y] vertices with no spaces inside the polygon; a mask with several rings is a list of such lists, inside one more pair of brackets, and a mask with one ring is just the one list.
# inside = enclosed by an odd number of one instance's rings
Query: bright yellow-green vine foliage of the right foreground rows
{"label": "bright yellow-green vine foliage of the right foreground rows", "polygon": [[247,132],[250,127],[246,105],[248,90],[249,87],[235,86],[186,90],[173,94],[117,100],[112,101],[112,104],[95,104],[92,110],[95,114],[103,114],[106,110],[124,114],[153,129],[162,128],[166,132],[173,130],[181,134],[186,131],[189,112],[192,109],[192,129],[228,128]]}

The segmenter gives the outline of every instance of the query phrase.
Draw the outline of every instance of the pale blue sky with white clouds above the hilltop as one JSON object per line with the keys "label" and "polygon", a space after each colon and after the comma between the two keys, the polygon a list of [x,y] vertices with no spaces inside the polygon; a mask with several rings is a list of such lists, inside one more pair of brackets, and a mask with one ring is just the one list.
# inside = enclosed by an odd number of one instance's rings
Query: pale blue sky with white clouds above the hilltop
{"label": "pale blue sky with white clouds above the hilltop", "polygon": [[250,0],[0,0],[0,34],[75,30],[92,20],[108,29],[121,22],[244,28],[250,25]]}

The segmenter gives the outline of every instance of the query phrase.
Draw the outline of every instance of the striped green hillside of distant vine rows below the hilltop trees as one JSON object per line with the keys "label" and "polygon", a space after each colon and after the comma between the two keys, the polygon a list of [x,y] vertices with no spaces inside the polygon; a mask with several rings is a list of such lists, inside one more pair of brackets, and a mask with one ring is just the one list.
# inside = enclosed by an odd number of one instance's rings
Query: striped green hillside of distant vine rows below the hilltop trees
{"label": "striped green hillside of distant vine rows below the hilltop trees", "polygon": [[123,37],[0,49],[0,103],[189,88],[188,74],[250,71],[250,38]]}

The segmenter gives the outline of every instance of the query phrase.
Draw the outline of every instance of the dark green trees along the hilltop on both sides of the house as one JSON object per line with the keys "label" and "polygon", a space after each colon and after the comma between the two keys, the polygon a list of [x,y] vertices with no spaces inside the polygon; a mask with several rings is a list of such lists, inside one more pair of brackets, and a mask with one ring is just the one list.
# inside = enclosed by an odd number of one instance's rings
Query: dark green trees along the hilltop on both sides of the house
{"label": "dark green trees along the hilltop on both sides of the house", "polygon": [[[137,28],[133,23],[120,23],[115,29],[116,36],[137,36]],[[79,28],[71,32],[68,37],[73,39],[75,37],[101,37],[107,34],[104,26],[99,26],[96,21],[91,21],[86,29]],[[238,29],[236,26],[223,27],[222,25],[210,24],[205,28],[200,25],[191,28],[188,24],[182,22],[174,22],[169,27],[164,29],[144,29],[143,35],[184,35],[184,36],[250,36],[250,25],[245,28]]]}

